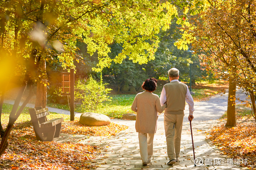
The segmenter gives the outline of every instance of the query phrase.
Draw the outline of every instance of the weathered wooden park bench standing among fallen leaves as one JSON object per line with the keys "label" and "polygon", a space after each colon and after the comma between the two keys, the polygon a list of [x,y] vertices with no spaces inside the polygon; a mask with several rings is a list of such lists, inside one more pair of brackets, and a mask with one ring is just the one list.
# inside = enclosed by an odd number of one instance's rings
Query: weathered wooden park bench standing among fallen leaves
{"label": "weathered wooden park bench standing among fallen leaves", "polygon": [[42,109],[42,107],[29,109],[29,114],[36,133],[36,140],[52,141],[53,138],[59,138],[63,117],[47,121],[46,116],[50,113],[48,108]]}

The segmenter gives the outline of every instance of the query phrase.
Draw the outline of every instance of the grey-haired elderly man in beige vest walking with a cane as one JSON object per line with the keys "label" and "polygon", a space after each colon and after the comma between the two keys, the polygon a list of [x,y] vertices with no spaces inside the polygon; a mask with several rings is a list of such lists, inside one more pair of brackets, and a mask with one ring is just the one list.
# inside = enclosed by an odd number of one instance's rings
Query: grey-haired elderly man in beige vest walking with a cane
{"label": "grey-haired elderly man in beige vest walking with a cane", "polygon": [[179,79],[179,70],[171,68],[168,71],[170,83],[164,85],[160,96],[160,103],[166,108],[164,110],[164,130],[167,144],[167,154],[169,162],[167,165],[173,165],[179,161],[180,156],[180,139],[183,124],[185,101],[188,103],[189,116],[191,120],[194,112],[194,100],[189,93],[188,86]]}

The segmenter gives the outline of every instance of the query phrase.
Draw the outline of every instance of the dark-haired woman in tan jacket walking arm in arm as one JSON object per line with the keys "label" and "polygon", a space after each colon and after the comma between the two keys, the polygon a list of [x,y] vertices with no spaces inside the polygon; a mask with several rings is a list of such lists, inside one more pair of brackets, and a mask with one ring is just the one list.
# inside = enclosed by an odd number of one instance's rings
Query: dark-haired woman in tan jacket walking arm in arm
{"label": "dark-haired woman in tan jacket walking arm in arm", "polygon": [[162,113],[166,103],[161,106],[156,90],[155,78],[147,79],[142,84],[144,92],[138,93],[132,103],[132,110],[137,112],[135,129],[139,132],[140,156],[142,165],[148,165],[153,155],[153,139],[156,133],[158,113]]}

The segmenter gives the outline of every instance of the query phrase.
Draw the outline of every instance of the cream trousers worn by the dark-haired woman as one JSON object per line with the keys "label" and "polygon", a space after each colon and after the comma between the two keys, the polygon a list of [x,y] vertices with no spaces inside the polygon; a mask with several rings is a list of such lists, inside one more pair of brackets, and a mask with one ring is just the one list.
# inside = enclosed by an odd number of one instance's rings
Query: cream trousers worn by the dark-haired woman
{"label": "cream trousers worn by the dark-haired woman", "polygon": [[153,155],[153,139],[155,134],[139,133],[140,156],[142,162],[149,162]]}

